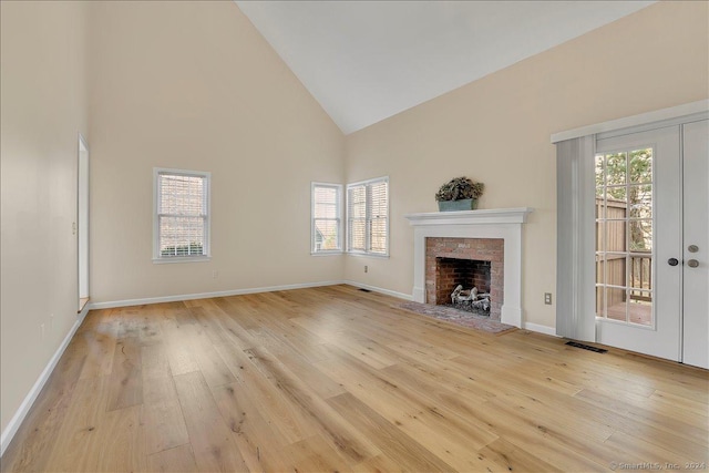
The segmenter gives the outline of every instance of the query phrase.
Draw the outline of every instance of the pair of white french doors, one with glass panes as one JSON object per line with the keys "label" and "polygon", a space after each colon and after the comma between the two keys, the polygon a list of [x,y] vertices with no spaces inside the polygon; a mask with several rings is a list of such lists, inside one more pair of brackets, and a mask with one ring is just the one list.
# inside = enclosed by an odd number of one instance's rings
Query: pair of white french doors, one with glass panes
{"label": "pair of white french doors, one with glass panes", "polygon": [[596,339],[709,368],[707,121],[596,142]]}

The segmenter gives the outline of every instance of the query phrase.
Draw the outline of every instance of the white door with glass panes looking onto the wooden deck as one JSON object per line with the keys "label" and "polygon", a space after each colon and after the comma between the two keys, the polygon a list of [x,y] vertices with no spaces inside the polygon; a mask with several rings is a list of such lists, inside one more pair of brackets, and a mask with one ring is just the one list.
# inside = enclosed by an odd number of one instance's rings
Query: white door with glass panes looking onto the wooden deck
{"label": "white door with glass panes looking onto the wooden deck", "polygon": [[681,359],[680,127],[596,144],[596,340]]}

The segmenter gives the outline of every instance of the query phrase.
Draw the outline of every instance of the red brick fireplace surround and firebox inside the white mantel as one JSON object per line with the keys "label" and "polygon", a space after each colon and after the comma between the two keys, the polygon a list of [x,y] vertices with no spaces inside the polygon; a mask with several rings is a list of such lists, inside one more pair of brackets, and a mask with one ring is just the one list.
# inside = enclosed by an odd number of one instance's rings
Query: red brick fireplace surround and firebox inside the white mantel
{"label": "red brick fireplace surround and firebox inside the white mantel", "polygon": [[448,304],[459,284],[490,292],[490,318],[500,320],[504,300],[504,239],[448,238],[425,239],[425,301]]}

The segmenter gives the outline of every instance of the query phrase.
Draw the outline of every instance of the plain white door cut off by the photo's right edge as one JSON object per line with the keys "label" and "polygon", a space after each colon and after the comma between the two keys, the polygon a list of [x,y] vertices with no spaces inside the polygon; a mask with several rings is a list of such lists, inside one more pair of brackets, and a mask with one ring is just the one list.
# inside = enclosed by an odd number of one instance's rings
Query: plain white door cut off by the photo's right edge
{"label": "plain white door cut off by the photo's right edge", "polygon": [[709,121],[682,125],[682,362],[709,368]]}

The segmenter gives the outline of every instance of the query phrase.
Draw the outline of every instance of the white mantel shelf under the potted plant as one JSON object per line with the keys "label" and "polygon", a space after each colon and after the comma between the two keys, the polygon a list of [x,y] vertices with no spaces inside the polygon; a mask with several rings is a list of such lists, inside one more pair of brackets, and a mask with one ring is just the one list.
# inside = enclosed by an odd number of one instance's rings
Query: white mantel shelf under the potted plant
{"label": "white mantel shelf under the potted plant", "polygon": [[483,210],[432,212],[427,214],[407,214],[404,218],[412,226],[418,225],[490,225],[524,224],[531,207],[486,208]]}

